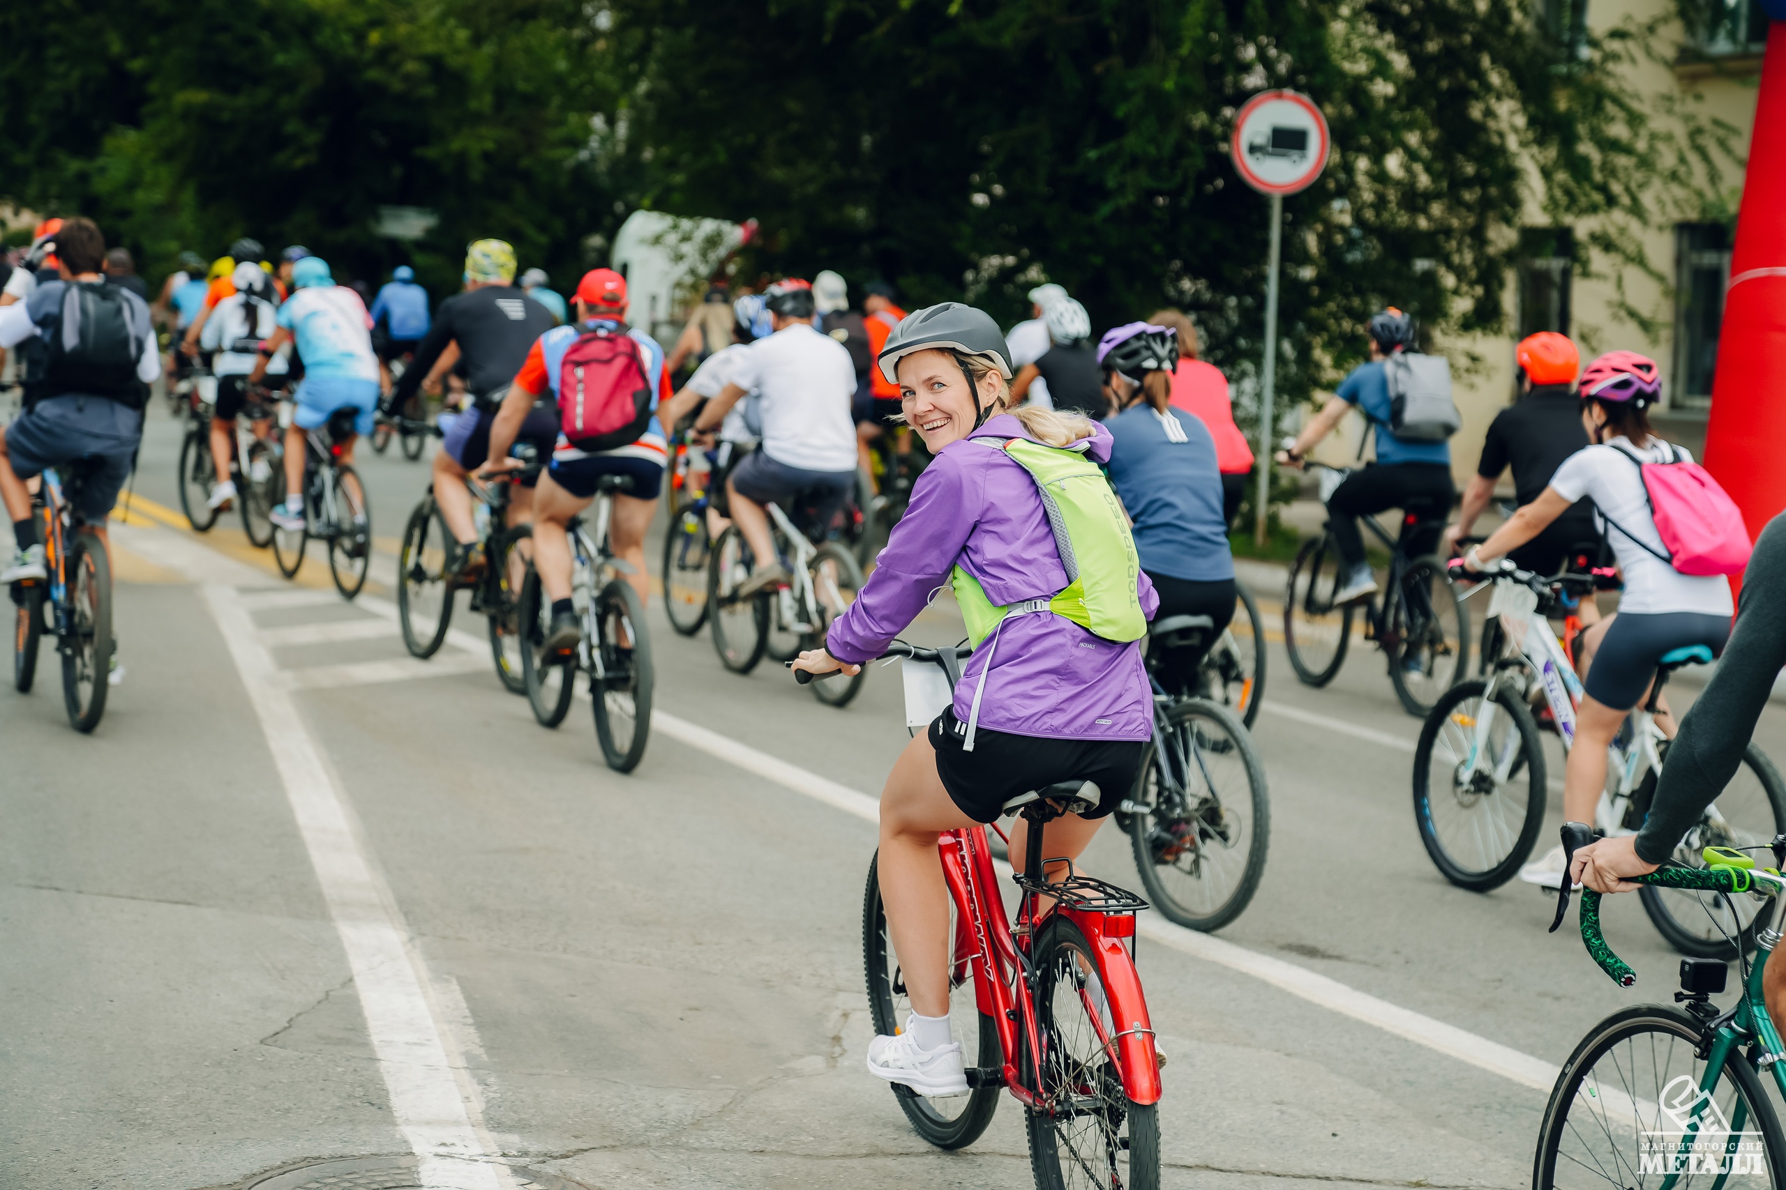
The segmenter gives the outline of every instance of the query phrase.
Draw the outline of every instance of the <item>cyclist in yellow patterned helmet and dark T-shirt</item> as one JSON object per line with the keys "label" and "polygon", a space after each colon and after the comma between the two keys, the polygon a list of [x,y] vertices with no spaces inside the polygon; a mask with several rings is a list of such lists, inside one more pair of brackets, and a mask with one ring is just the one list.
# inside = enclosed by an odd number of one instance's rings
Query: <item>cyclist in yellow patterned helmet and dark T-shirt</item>
{"label": "cyclist in yellow patterned helmet and dark T-shirt", "polygon": [[[477,521],[472,517],[472,492],[464,487],[464,476],[484,466],[489,455],[489,423],[502,407],[509,382],[527,360],[527,350],[557,325],[547,307],[522,294],[513,282],[514,248],[500,239],[473,243],[464,257],[464,293],[441,302],[414,362],[384,403],[388,414],[404,409],[446,344],[457,346],[472,407],[454,419],[434,455],[434,500],[457,541],[454,557],[446,558],[446,573],[459,582],[475,578],[479,566],[479,553],[473,550]],[[550,403],[536,405],[522,423],[518,441],[532,442],[539,457],[547,459],[557,441],[557,410]],[[511,523],[530,516],[532,489],[518,483],[509,501]]]}

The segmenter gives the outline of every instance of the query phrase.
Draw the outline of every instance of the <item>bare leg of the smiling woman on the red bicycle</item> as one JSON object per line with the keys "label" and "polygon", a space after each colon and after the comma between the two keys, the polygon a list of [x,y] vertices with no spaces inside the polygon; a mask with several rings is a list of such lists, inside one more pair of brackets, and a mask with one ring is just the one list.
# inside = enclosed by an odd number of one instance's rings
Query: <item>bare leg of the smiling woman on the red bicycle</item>
{"label": "bare leg of the smiling woman on the red bicycle", "polygon": [[936,856],[947,830],[975,826],[936,774],[936,753],[918,733],[880,790],[880,901],[893,953],[922,1017],[948,1015],[948,885]]}

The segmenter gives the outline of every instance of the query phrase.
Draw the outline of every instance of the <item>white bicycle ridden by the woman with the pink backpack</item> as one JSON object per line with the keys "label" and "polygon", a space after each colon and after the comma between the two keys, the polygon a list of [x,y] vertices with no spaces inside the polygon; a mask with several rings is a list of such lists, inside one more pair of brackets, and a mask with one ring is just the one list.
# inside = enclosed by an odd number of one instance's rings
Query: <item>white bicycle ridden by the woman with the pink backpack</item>
{"label": "white bicycle ridden by the woman with the pink backpack", "polygon": [[[1440,872],[1461,888],[1488,892],[1527,862],[1543,830],[1548,776],[1538,717],[1568,753],[1575,744],[1575,708],[1584,694],[1570,653],[1550,628],[1561,598],[1591,594],[1591,574],[1543,576],[1502,562],[1484,574],[1488,614],[1500,619],[1504,653],[1486,676],[1447,690],[1420,730],[1415,749],[1415,822]],[[1595,810],[1598,835],[1631,835],[1648,815],[1668,739],[1656,726],[1657,698],[1668,676],[1711,662],[1702,644],[1663,655],[1648,699],[1636,707],[1607,749],[1607,783]],[[1675,862],[1704,867],[1706,847],[1759,847],[1786,831],[1786,785],[1754,744],[1736,776],[1675,849]],[[1693,888],[1648,885],[1640,894],[1656,928],[1684,954],[1731,958],[1731,937],[1754,946],[1757,906]],[[1732,908],[1734,906],[1734,908]],[[1736,915],[1732,919],[1732,913]]]}

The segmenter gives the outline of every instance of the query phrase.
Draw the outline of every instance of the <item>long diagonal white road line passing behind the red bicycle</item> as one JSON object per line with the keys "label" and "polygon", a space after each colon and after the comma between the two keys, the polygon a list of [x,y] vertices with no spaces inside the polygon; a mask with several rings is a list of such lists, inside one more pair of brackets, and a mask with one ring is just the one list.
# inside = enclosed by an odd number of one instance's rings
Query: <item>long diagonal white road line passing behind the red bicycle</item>
{"label": "long diagonal white road line passing behind the red bicycle", "polygon": [[[1272,707],[1272,703],[1264,705]],[[875,797],[850,789],[848,785],[839,785],[830,778],[809,773],[800,765],[772,756],[764,751],[750,748],[748,744],[739,744],[738,740],[720,735],[718,731],[709,731],[707,728],[689,723],[679,715],[654,710],[652,731],[661,731],[663,735],[668,735],[682,744],[698,748],[711,756],[734,764],[747,773],[755,773],[757,776],[768,778],[797,794],[822,801],[827,806],[836,806],[845,814],[852,814],[864,822],[880,822],[880,805]],[[1384,733],[1379,731],[1377,735]],[[1307,967],[1298,967],[1297,963],[1286,963],[1281,958],[1259,954],[1257,951],[1250,951],[1243,946],[1225,942],[1207,933],[1197,933],[1195,930],[1186,930],[1184,926],[1175,926],[1154,915],[1141,917],[1139,930],[1148,938],[1154,938],[1156,942],[1182,954],[1220,963],[1231,971],[1263,979],[1264,983],[1313,1004],[1352,1017],[1354,1021],[1363,1021],[1365,1024],[1375,1026],[1386,1033],[1393,1033],[1415,1042],[1416,1045],[1425,1045],[1427,1049],[1434,1049],[1450,1058],[1457,1058],[1459,1062],[1498,1074],[1506,1079],[1520,1083],[1522,1087],[1548,1092],[1557,1079],[1557,1067],[1543,1062],[1541,1058],[1532,1058],[1531,1054],[1523,1054],[1516,1049],[1502,1045],[1500,1042],[1491,1042],[1486,1037],[1477,1037],[1475,1033],[1459,1029],[1454,1024],[1434,1021],[1432,1017],[1413,1012],[1411,1008],[1402,1008],[1386,999],[1370,996],[1368,992],[1359,992],[1357,988],[1347,987],[1338,979],[1329,979],[1327,976],[1309,971]]]}

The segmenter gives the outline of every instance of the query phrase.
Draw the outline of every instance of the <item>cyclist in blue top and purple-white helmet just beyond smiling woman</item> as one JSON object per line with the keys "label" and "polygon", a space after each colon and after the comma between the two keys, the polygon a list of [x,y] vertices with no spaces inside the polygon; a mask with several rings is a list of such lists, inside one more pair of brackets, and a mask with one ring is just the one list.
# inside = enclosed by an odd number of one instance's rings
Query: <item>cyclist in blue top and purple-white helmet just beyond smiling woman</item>
{"label": "cyclist in blue top and purple-white helmet just beyond smiling woman", "polygon": [[1104,423],[1111,444],[1109,476],[1134,521],[1141,569],[1159,592],[1156,619],[1207,616],[1213,632],[1202,649],[1172,649],[1159,658],[1168,694],[1200,694],[1197,674],[1207,646],[1234,619],[1234,555],[1222,512],[1216,441],[1195,414],[1172,407],[1179,341],[1170,326],[1129,323],[1098,343],[1116,416]]}

